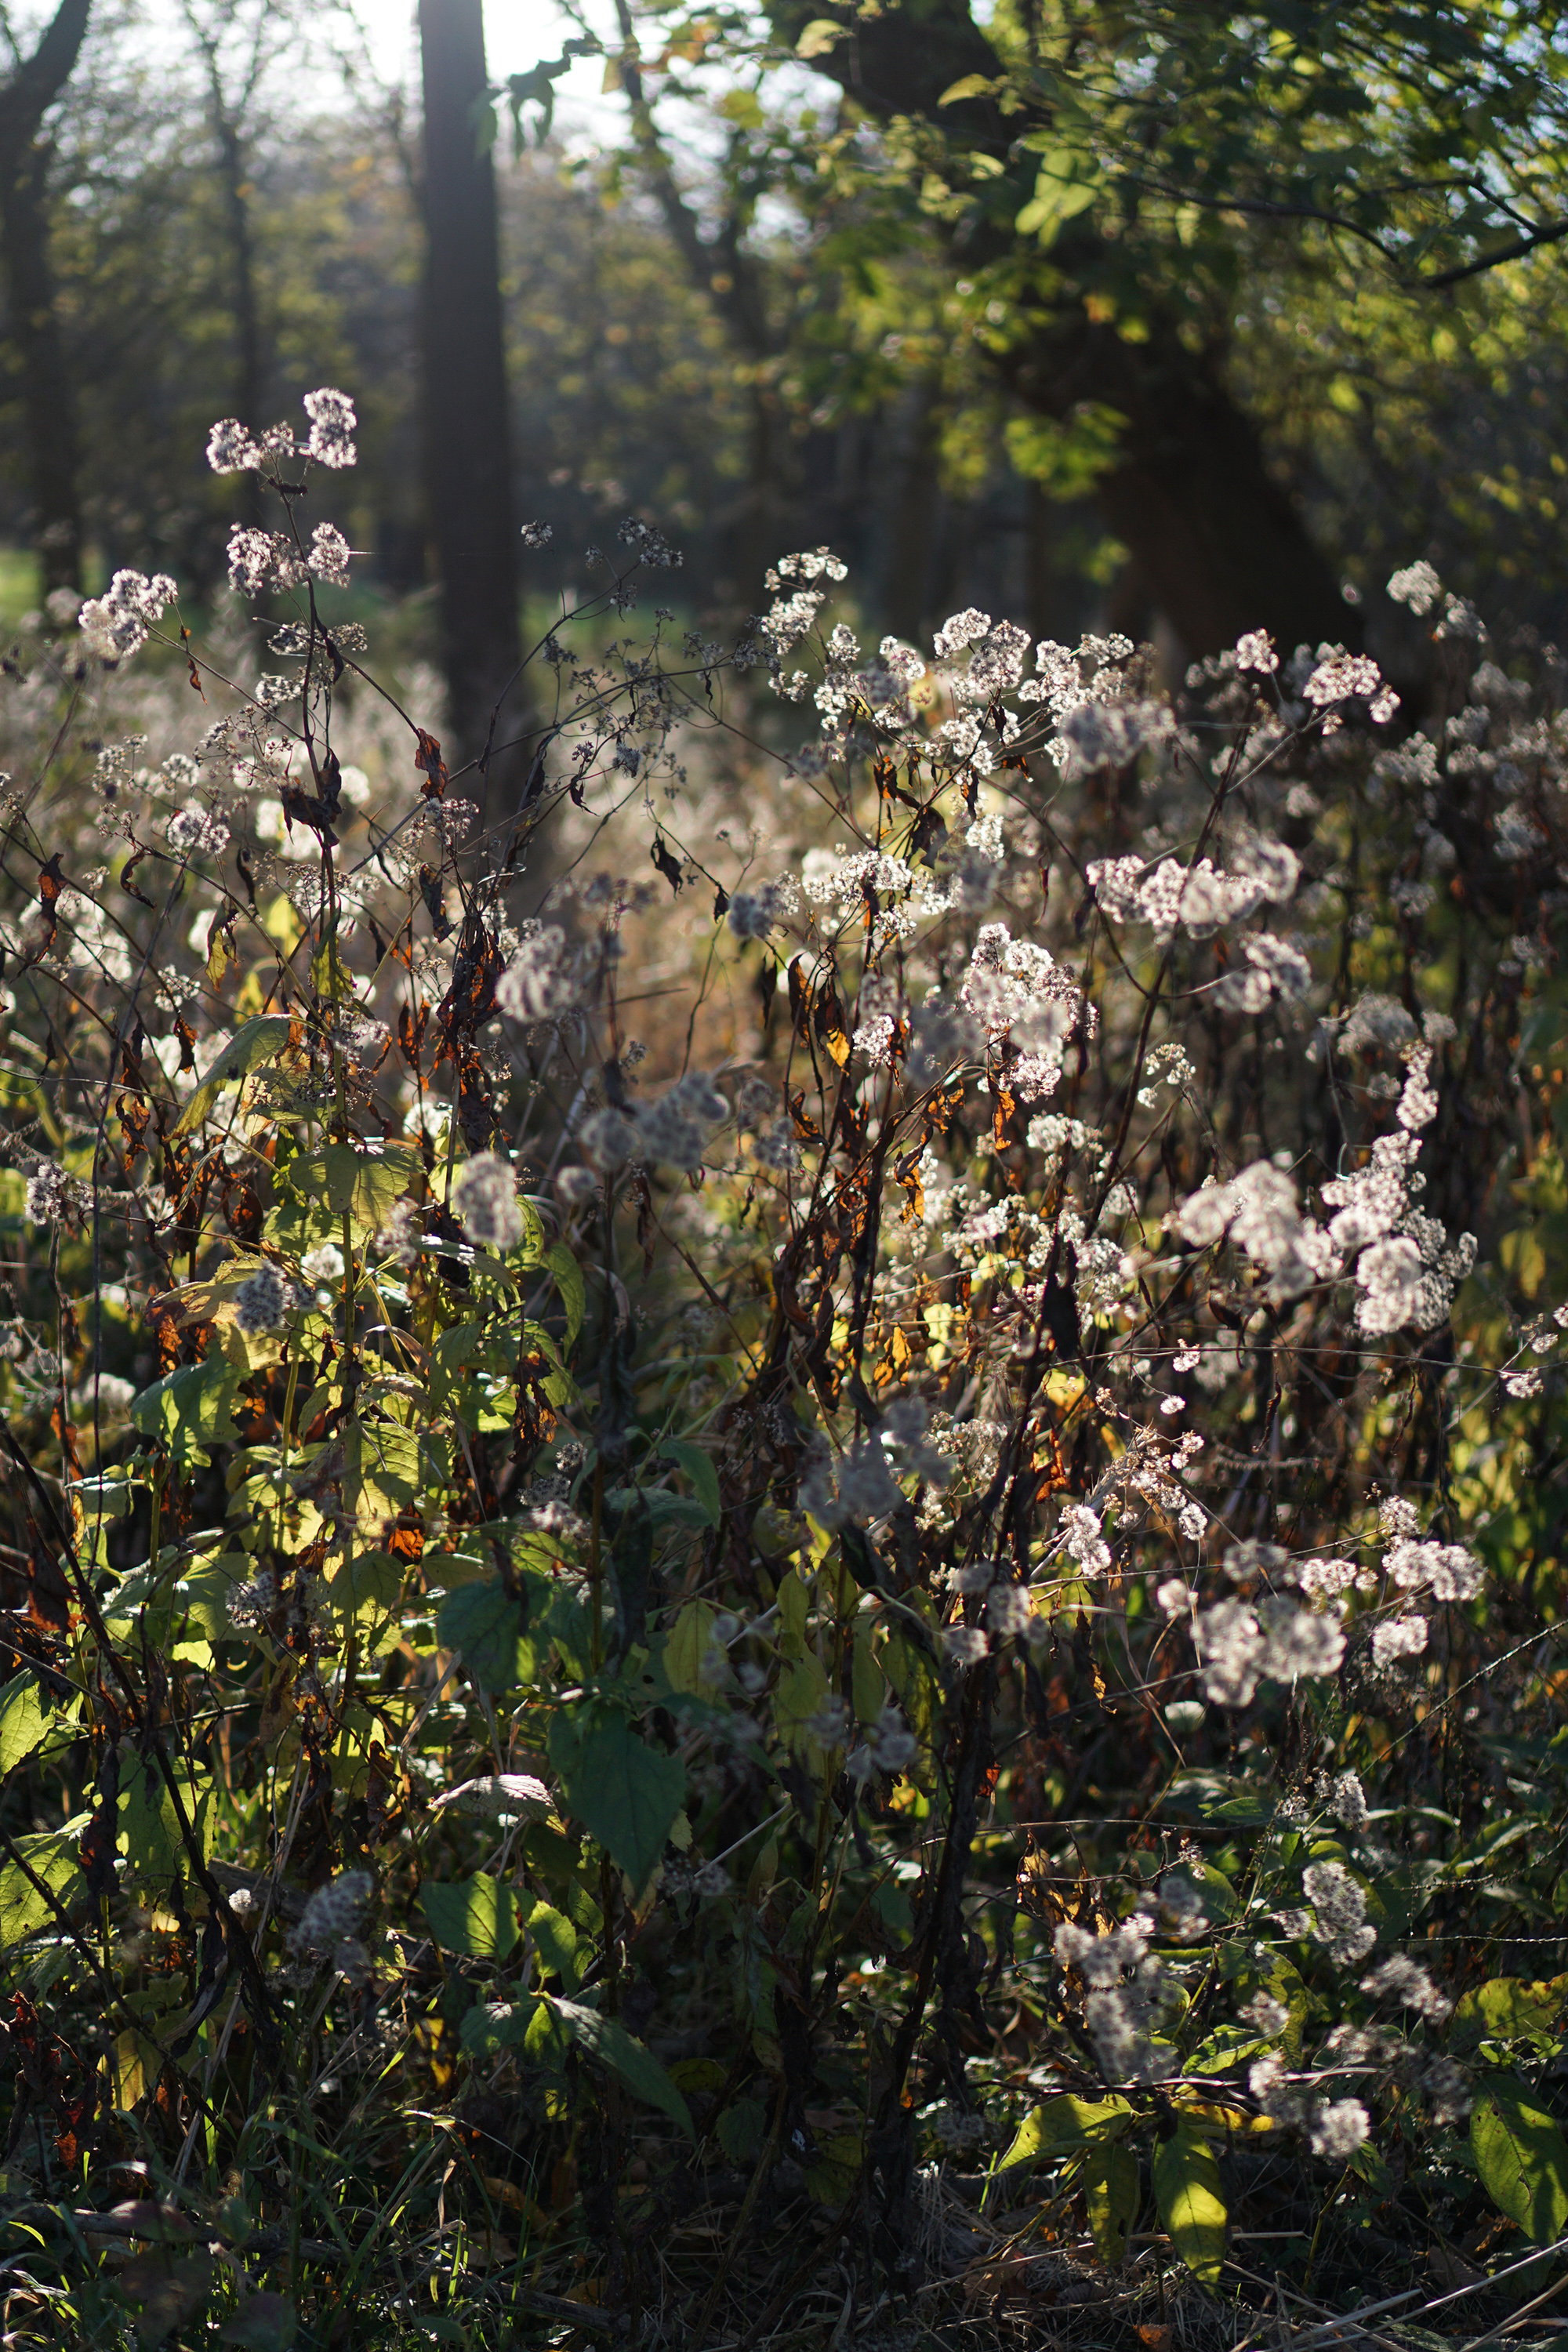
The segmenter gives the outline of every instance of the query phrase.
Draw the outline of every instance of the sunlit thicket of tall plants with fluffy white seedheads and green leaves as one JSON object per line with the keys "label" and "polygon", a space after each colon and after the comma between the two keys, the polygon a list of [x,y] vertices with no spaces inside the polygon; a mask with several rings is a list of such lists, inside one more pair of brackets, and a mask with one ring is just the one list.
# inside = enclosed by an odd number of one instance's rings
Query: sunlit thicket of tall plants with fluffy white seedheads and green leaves
{"label": "sunlit thicket of tall plants with fluffy white seedheads and green leaves", "polygon": [[611,640],[628,524],[508,797],[376,706],[306,412],[209,447],[282,668],[223,701],[118,574],[7,677],[26,2194],[207,2166],[322,2326],[329,2100],[425,2145],[433,2263],[698,2333],[778,2317],[679,2241],[736,2173],[863,2300],[980,2157],[1171,2291],[1227,2209],[1324,2293],[1530,2227],[1568,668],[1425,564],[1399,691],[865,654],[825,548],[736,647]]}

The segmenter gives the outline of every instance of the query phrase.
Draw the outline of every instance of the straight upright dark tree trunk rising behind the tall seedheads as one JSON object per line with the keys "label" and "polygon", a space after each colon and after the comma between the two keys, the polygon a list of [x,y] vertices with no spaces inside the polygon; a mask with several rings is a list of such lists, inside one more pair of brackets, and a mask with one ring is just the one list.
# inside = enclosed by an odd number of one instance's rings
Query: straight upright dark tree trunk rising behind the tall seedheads
{"label": "straight upright dark tree trunk rising behind the tall seedheads", "polygon": [[[501,332],[496,179],[480,153],[480,0],[418,0],[425,85],[425,485],[451,731],[484,757],[520,666],[517,524]],[[508,734],[496,722],[494,741]],[[484,800],[482,790],[473,790]]]}

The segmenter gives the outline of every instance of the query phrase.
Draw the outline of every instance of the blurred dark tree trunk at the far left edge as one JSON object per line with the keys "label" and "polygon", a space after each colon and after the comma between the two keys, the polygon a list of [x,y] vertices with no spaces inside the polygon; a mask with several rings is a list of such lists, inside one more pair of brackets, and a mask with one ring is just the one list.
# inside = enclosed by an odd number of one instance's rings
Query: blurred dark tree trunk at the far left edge
{"label": "blurred dark tree trunk at the far left edge", "polygon": [[49,263],[49,162],[42,118],[66,87],[92,0],[61,0],[28,59],[0,87],[0,256],[9,339],[21,360],[21,407],[33,470],[33,541],[45,593],[82,586],[80,442],[75,388]]}

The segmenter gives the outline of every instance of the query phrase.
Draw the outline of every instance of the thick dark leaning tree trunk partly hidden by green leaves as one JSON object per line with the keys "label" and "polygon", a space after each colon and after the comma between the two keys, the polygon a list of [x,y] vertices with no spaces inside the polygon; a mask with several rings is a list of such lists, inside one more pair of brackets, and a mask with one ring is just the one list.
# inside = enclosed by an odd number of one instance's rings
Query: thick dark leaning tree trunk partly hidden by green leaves
{"label": "thick dark leaning tree trunk partly hidden by green leaves", "polygon": [[[778,31],[795,40],[816,0],[771,0]],[[992,155],[1016,179],[997,186],[990,221],[966,223],[961,261],[976,273],[1018,254],[1011,219],[1032,193],[1034,158],[1013,155],[1020,132],[990,99],[940,106],[971,73],[999,73],[997,52],[964,0],[903,0],[858,16],[849,38],[816,59],[867,113],[926,115],[950,136]],[[1027,179],[1027,186],[1025,186]],[[1192,654],[1215,654],[1241,630],[1269,628],[1295,647],[1324,637],[1354,642],[1356,614],[1314,546],[1291,499],[1269,475],[1251,421],[1225,390],[1213,360],[1190,353],[1175,322],[1154,315],[1143,343],[1093,325],[1072,278],[1093,261],[1095,240],[1065,233],[1051,270],[1067,280],[1056,310],[1034,334],[990,353],[1011,390],[1044,416],[1063,419],[1079,402],[1100,402],[1126,419],[1121,456],[1098,482],[1098,506],[1131,550],[1166,619]]]}

